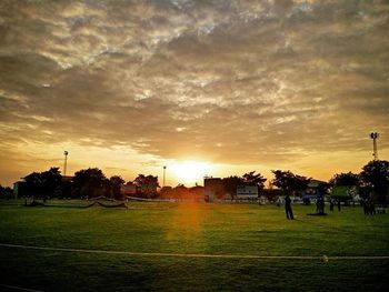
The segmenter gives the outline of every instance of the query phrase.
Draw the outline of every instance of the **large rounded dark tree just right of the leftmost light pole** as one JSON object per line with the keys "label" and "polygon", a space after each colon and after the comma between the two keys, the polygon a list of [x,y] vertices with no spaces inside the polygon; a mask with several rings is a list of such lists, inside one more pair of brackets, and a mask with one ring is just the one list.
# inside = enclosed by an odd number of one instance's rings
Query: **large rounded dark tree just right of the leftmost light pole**
{"label": "large rounded dark tree just right of the leftmost light pole", "polygon": [[99,197],[104,194],[107,178],[98,168],[84,169],[74,173],[73,193],[81,197]]}

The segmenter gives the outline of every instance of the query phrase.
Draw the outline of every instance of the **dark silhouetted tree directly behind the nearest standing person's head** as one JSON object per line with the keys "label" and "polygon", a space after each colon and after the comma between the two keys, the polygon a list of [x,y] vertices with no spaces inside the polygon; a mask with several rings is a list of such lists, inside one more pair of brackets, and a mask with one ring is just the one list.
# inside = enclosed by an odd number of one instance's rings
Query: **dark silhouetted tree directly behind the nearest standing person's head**
{"label": "dark silhouetted tree directly behind the nearest standing person's head", "polygon": [[303,191],[309,180],[306,177],[301,177],[292,173],[291,171],[282,171],[282,170],[272,170],[275,174],[275,179],[272,180],[272,184],[280,188],[285,194],[297,194]]}

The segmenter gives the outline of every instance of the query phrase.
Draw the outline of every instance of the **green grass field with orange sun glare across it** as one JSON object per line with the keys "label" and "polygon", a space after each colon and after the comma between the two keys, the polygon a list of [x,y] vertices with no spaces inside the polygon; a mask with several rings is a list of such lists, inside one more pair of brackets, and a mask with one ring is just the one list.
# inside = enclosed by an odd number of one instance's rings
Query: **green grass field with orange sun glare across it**
{"label": "green grass field with orange sun glare across it", "polygon": [[[388,259],[331,258],[389,255],[388,214],[365,217],[360,208],[345,208],[319,218],[307,215],[315,207],[298,205],[297,220],[288,221],[283,209],[273,205],[138,202],[130,205],[133,209],[26,208],[0,203],[2,244],[136,253],[0,246],[0,284],[40,291],[389,288]],[[167,253],[318,258],[183,258]],[[328,262],[321,260],[323,255],[329,258]]]}

